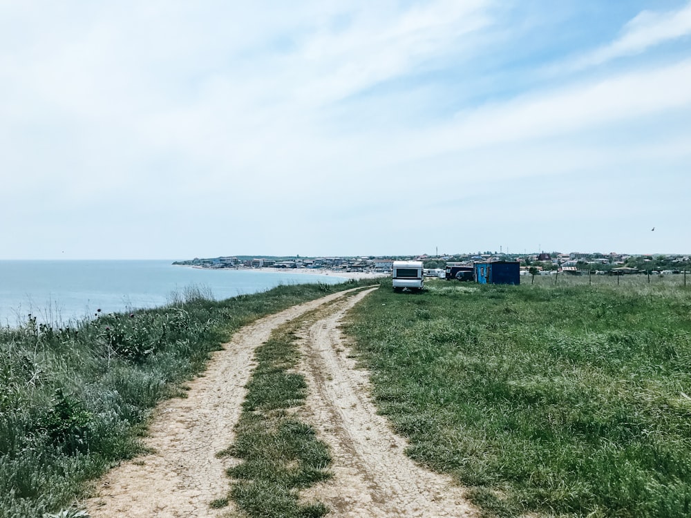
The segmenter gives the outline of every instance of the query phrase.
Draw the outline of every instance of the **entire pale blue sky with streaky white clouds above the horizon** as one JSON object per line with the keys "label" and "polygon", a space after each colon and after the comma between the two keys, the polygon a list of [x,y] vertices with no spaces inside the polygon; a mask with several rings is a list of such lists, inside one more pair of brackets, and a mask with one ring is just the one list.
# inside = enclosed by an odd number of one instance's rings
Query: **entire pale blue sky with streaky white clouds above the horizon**
{"label": "entire pale blue sky with streaky white clouds above the horizon", "polygon": [[691,253],[690,208],[688,0],[0,0],[0,259]]}

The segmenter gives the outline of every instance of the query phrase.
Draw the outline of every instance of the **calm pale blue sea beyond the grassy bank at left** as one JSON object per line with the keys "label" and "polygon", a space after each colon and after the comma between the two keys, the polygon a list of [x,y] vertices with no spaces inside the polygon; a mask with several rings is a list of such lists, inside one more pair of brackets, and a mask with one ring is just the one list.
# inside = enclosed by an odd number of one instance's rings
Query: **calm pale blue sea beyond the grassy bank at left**
{"label": "calm pale blue sea beyond the grassy bank at left", "polygon": [[65,323],[106,313],[164,305],[171,294],[200,287],[216,300],[281,284],[342,282],[335,276],[284,271],[202,270],[169,260],[0,260],[0,325],[17,325],[28,314]]}

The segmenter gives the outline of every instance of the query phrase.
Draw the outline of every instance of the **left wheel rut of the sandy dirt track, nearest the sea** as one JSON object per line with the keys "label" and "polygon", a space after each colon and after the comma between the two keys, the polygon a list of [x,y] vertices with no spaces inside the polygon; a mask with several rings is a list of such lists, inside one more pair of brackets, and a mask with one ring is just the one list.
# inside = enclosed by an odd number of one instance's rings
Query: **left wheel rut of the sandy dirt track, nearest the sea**
{"label": "left wheel rut of the sandy dirt track, nearest the sea", "polygon": [[225,470],[232,459],[216,453],[234,441],[245,400],[245,385],[254,368],[254,349],[272,330],[341,298],[345,291],[297,305],[240,329],[223,350],[214,353],[204,376],[189,383],[186,399],[171,399],[158,408],[144,440],[153,453],[122,463],[100,481],[85,505],[93,518],[219,517],[230,508],[211,509],[226,497],[231,480]]}

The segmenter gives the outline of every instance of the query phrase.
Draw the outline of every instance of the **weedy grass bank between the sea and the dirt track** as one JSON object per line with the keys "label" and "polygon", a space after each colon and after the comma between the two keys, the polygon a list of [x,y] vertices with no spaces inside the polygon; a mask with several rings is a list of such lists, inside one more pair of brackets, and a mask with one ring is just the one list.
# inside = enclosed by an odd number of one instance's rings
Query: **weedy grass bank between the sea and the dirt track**
{"label": "weedy grass bank between the sea and the dirt track", "polygon": [[[363,284],[371,281],[363,282]],[[182,394],[239,327],[342,285],[281,286],[216,302],[194,289],[158,309],[0,328],[0,517],[41,517],[140,451],[149,410]]]}

